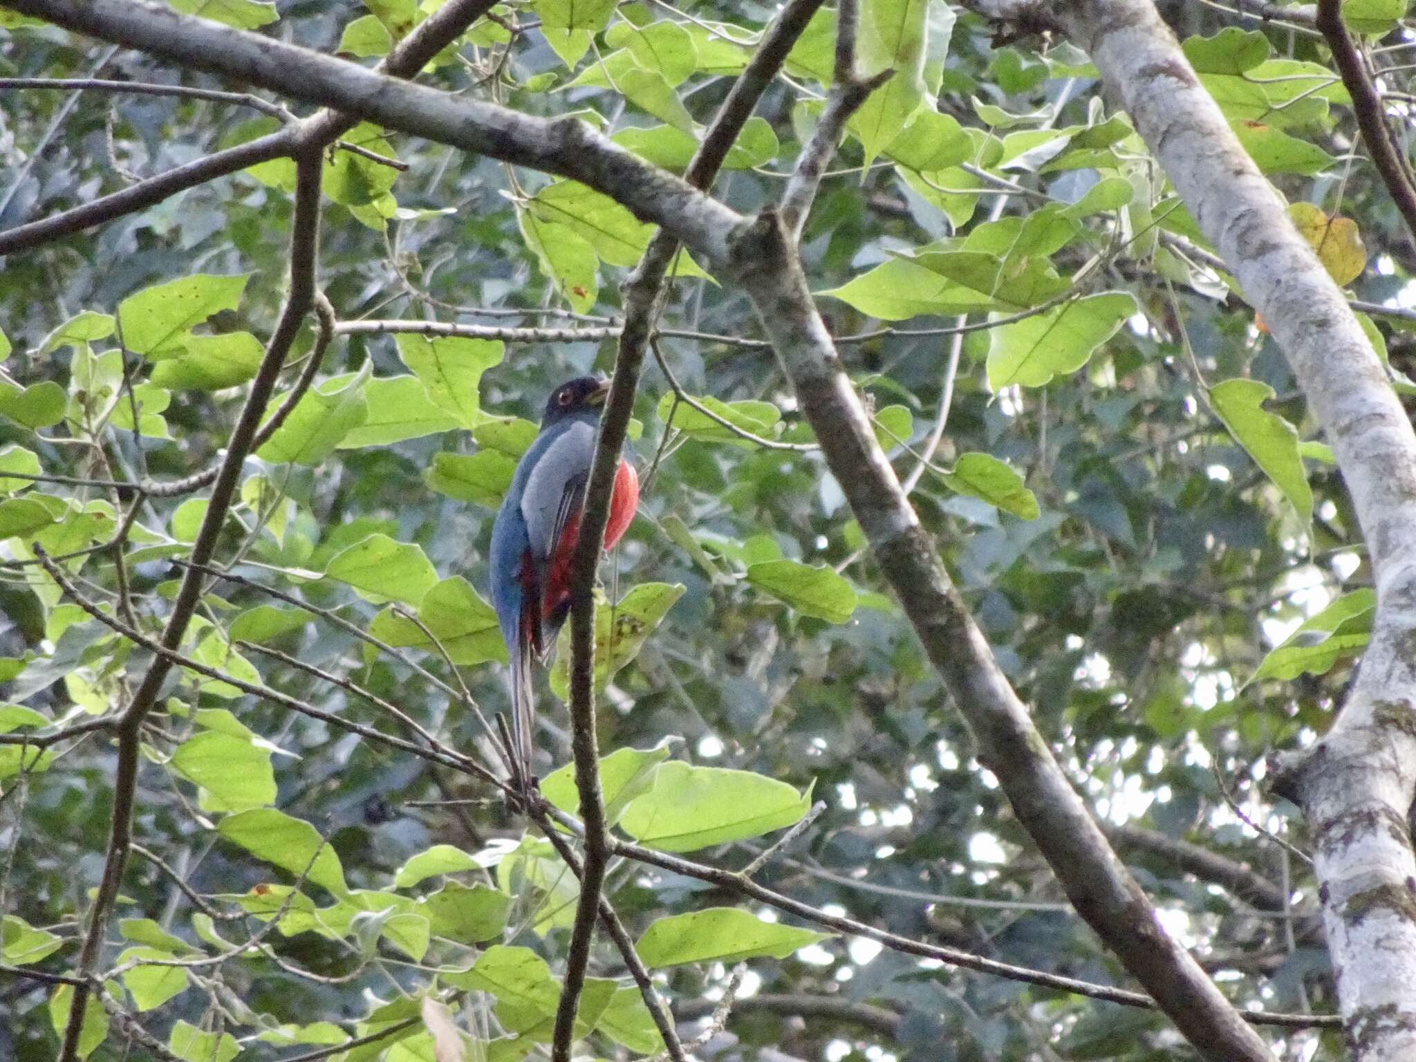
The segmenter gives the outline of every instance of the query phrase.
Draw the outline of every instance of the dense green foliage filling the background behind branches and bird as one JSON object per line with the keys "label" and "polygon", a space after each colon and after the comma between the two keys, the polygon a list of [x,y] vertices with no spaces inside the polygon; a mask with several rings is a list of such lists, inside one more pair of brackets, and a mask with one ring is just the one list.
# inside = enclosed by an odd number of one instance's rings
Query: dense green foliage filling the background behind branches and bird
{"label": "dense green foliage filling the background behind branches and bird", "polygon": [[[438,6],[171,3],[358,58]],[[772,16],[683,7],[498,6],[422,79],[576,113],[681,170]],[[1410,246],[1354,153],[1320,38],[1172,7],[1335,279],[1376,304],[1372,336],[1406,388],[1410,316],[1383,304],[1405,290]],[[1400,65],[1403,6],[1351,7],[1386,45],[1378,61]],[[241,88],[16,16],[0,27],[0,76]],[[735,208],[780,197],[833,47],[823,8],[728,159],[716,190]],[[803,255],[882,445],[1167,927],[1240,1005],[1331,1012],[1313,888],[1287,844],[1303,837],[1263,790],[1264,758],[1328,725],[1372,593],[1303,396],[1080,52],[994,44],[942,0],[868,0],[861,62],[895,74],[852,120]],[[0,227],[279,122],[227,101],[3,88]],[[317,348],[306,326],[296,343],[275,405],[317,350],[319,375],[248,460],[180,649],[207,670],[177,668],[144,724],[99,970],[109,1003],[180,1058],[282,1059],[398,1024],[346,1056],[430,1059],[429,993],[486,1058],[521,1058],[549,1039],[573,879],[487,784],[406,745],[422,729],[500,770],[484,728],[507,707],[484,600],[491,514],[548,391],[610,368],[617,285],[651,228],[489,159],[368,126],[344,143],[365,153],[331,150],[323,177],[336,337]],[[113,811],[103,721],[152,660],[207,504],[205,484],[133,484],[218,460],[287,280],[293,183],[293,163],[265,163],[4,259],[7,966],[75,961]],[[388,320],[484,331],[388,334]],[[603,568],[599,736],[617,830],[739,868],[820,800],[758,881],[906,937],[1121,983],[973,759],[746,297],[683,256],[660,324],[636,404],[644,501]],[[573,811],[566,656],[541,692],[542,775],[559,769],[542,789]],[[620,861],[606,895],[685,1035],[748,960],[707,1048],[722,1058],[1188,1056],[1154,1011],[830,935],[726,884]],[[590,974],[582,1048],[657,1051],[606,940]],[[71,993],[0,974],[0,1055],[52,1058]],[[99,1003],[89,1015],[81,1049],[123,1058],[122,1021]],[[1286,1058],[1340,1049],[1321,1035],[1269,1029]]]}

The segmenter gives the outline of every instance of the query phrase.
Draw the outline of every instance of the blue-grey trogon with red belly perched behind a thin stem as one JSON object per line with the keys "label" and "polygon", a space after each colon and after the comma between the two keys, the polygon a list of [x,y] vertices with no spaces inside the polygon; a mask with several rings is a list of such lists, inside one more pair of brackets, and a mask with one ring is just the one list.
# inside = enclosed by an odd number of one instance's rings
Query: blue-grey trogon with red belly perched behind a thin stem
{"label": "blue-grey trogon with red belly perched behind a thin stem", "polygon": [[[521,456],[491,525],[491,603],[511,661],[511,735],[517,770],[530,784],[535,705],[531,663],[545,658],[571,612],[571,556],[595,457],[609,381],[579,377],[547,399],[541,432]],[[624,534],[639,504],[639,474],[620,460],[605,525],[605,548]]]}

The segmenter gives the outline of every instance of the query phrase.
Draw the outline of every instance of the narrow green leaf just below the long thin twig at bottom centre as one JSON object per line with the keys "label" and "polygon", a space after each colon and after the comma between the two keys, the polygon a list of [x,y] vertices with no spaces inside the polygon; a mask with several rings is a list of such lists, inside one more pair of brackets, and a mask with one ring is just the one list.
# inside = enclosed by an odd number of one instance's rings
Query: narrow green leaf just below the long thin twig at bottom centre
{"label": "narrow green leaf just below the long thin twig at bottom centre", "polygon": [[644,930],[634,950],[646,966],[663,969],[685,963],[735,963],[756,956],[786,959],[830,939],[830,933],[763,922],[738,908],[708,908],[658,919]]}

